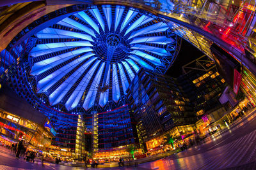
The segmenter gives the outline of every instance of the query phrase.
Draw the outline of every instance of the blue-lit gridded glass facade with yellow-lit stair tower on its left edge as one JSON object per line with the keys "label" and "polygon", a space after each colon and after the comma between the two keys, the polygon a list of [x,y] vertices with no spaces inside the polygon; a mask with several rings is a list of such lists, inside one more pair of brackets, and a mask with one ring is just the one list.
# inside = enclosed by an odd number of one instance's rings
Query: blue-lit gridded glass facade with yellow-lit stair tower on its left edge
{"label": "blue-lit gridded glass facade with yellow-lit stair tower on its left edge", "polygon": [[[93,113],[93,153],[95,157],[109,157],[106,152],[125,152],[129,145],[138,146],[136,123],[128,104],[115,110]],[[121,154],[121,153],[120,153]]]}

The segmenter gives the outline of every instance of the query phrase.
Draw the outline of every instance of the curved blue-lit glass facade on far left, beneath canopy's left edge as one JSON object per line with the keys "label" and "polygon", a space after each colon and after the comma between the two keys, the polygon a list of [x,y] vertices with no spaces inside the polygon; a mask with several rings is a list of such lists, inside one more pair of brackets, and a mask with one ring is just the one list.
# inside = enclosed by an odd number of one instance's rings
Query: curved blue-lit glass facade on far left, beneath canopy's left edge
{"label": "curved blue-lit glass facade on far left, beneath canopy's left edge", "polygon": [[[35,94],[33,83],[29,83],[26,69],[23,67],[19,65],[13,66],[12,72],[6,74],[6,76],[8,76],[6,83],[20,97],[26,99],[35,110],[40,111],[48,117],[52,126],[56,129],[56,136],[51,141],[52,149],[55,150],[56,148],[56,150],[60,150],[61,148],[65,148],[70,152],[68,156],[71,157],[71,153],[75,152],[76,148],[77,120],[79,115],[77,113],[65,113],[58,106],[54,108],[47,106],[48,103],[45,95],[35,97],[33,95]],[[63,155],[67,154],[63,152]]]}

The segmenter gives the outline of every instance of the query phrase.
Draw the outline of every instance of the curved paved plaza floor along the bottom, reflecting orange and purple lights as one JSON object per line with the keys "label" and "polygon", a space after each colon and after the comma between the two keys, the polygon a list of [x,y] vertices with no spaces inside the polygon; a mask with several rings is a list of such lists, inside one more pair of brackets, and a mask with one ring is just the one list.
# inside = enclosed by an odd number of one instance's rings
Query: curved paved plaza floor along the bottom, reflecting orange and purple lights
{"label": "curved paved plaza floor along the bottom, reflecting orange and purple lights", "polygon": [[[247,115],[209,138],[200,146],[164,159],[139,164],[138,167],[110,169],[256,169],[256,119],[253,116]],[[84,169],[48,162],[43,166],[40,161],[25,162],[15,159],[14,153],[3,147],[0,158],[0,169]]]}

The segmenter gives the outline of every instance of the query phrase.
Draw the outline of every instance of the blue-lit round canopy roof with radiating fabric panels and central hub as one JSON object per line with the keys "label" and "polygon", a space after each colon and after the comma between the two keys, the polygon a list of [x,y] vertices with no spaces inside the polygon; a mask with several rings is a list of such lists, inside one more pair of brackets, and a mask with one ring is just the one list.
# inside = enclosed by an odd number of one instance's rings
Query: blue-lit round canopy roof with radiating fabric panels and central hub
{"label": "blue-lit round canopy roof with radiating fabric panels and central hub", "polygon": [[140,67],[165,72],[177,55],[163,19],[124,6],[93,6],[35,36],[36,92],[67,110],[117,103]]}

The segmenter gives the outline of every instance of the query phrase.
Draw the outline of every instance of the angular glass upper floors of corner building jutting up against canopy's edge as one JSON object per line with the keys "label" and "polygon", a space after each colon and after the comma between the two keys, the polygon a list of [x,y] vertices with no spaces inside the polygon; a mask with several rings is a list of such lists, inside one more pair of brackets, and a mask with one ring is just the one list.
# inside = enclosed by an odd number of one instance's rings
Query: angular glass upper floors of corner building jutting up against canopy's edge
{"label": "angular glass upper floors of corner building jutting up against canopy's edge", "polygon": [[144,142],[196,121],[193,107],[175,78],[140,69],[127,93]]}

